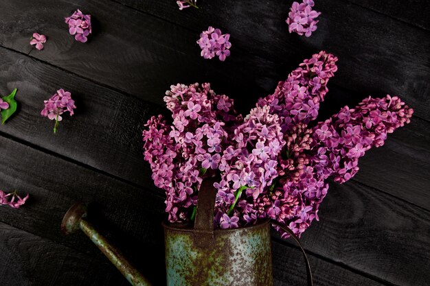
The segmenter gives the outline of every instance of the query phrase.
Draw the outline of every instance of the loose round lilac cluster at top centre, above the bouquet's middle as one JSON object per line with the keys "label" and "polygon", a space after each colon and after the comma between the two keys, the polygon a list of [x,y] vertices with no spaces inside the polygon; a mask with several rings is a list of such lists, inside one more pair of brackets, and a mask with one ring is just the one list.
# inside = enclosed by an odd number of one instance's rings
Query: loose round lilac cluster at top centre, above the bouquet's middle
{"label": "loose round lilac cluster at top centre, above the bouquet's middle", "polygon": [[211,59],[218,56],[220,61],[225,61],[227,56],[230,56],[231,43],[229,42],[230,34],[221,34],[220,29],[208,27],[207,31],[200,34],[197,43],[201,48],[201,56]]}

